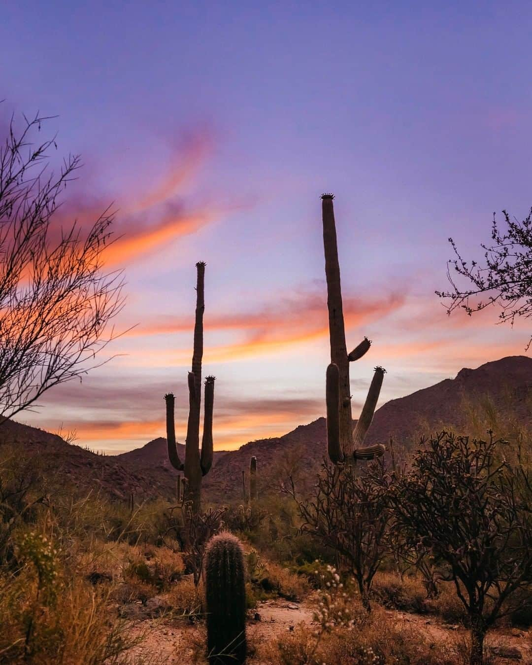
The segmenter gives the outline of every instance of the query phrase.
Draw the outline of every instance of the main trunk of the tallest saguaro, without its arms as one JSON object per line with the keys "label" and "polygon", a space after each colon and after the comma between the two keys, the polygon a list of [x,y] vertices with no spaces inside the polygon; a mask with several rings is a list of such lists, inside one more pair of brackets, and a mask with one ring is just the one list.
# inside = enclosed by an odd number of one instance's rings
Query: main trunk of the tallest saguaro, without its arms
{"label": "main trunk of the tallest saguaro, without its arms", "polygon": [[339,369],[340,376],[340,444],[343,455],[353,452],[353,422],[351,416],[351,386],[349,384],[349,359],[345,344],[340,266],[333,210],[333,197],[323,195],[321,199],[323,216],[323,249],[325,251],[325,277],[327,277],[327,308],[329,309],[329,338],[331,342],[331,362]]}

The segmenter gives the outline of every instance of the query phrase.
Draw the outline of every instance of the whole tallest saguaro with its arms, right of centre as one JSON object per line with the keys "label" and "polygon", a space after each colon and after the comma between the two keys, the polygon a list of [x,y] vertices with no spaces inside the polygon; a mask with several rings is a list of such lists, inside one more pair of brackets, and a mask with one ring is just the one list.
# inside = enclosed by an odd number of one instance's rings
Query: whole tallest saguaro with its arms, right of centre
{"label": "whole tallest saguaro with its arms, right of centre", "polygon": [[333,194],[323,194],[321,196],[321,212],[323,218],[325,277],[327,278],[329,340],[331,344],[331,364],[327,367],[325,376],[327,451],[331,462],[337,464],[351,458],[371,460],[384,453],[385,448],[381,444],[370,448],[359,448],[359,446],[363,444],[366,432],[373,419],[385,370],[382,367],[375,368],[375,375],[371,382],[361,418],[359,418],[355,432],[353,432],[349,362],[359,360],[369,350],[371,341],[365,337],[350,353],[347,352],[333,198]]}

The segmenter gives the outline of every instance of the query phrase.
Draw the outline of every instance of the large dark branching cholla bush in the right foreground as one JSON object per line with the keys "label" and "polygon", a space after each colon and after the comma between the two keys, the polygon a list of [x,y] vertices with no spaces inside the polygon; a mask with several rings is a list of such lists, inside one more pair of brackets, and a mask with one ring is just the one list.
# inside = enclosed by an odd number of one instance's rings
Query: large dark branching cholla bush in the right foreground
{"label": "large dark branching cholla bush in the right foreground", "polygon": [[532,477],[519,460],[505,460],[505,444],[491,432],[488,441],[442,432],[390,492],[406,538],[421,541],[454,582],[471,665],[482,663],[486,631],[505,604],[532,580]]}

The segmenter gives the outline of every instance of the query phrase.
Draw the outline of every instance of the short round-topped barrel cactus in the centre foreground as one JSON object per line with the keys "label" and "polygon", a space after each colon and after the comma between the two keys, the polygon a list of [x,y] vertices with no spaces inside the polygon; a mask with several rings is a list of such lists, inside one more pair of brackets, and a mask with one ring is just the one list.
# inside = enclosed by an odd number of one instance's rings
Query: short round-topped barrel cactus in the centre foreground
{"label": "short round-topped barrel cactus in the centre foreground", "polygon": [[209,663],[242,665],[246,660],[244,553],[238,538],[227,531],[207,545],[205,600]]}

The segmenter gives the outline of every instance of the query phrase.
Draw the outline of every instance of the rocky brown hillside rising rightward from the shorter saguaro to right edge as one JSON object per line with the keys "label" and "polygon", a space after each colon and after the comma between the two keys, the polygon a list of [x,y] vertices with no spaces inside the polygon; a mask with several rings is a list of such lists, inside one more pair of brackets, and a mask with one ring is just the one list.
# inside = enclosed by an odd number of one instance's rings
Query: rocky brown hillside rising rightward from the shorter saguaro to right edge
{"label": "rocky brown hillside rising rightward from the shorter saguaro to right edge", "polygon": [[[460,431],[466,416],[464,404],[489,397],[496,409],[532,428],[532,358],[511,356],[488,362],[477,369],[464,368],[456,378],[417,390],[387,402],[377,412],[367,434],[367,444],[388,444],[411,450],[423,434],[452,426]],[[326,454],[325,418],[299,426],[280,438],[264,439],[226,454],[205,477],[208,495],[240,497],[242,469],[247,473],[252,455],[258,460],[264,489],[286,479],[289,472],[312,479]]]}

